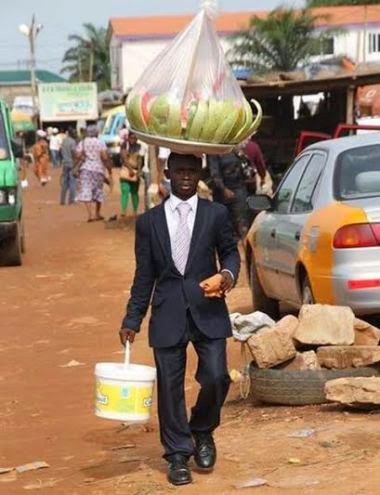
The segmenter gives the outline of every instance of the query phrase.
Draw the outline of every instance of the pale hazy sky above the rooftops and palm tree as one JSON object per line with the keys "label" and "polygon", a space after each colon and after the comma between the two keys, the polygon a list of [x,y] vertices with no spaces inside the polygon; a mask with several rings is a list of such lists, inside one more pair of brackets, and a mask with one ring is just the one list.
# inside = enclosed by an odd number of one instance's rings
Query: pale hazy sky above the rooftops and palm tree
{"label": "pale hazy sky above the rooftops and palm tree", "polygon": [[[196,13],[200,0],[0,0],[0,70],[25,69],[29,59],[20,24],[30,24],[33,13],[43,25],[36,42],[39,69],[59,73],[67,36],[81,34],[84,22],[108,25],[110,17]],[[301,0],[219,0],[219,10],[270,10],[279,4],[300,5]]]}

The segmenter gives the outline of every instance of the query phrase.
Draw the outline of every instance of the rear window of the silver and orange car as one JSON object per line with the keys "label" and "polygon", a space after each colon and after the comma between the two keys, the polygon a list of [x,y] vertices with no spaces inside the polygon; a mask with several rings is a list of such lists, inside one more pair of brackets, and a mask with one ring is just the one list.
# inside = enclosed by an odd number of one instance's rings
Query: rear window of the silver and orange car
{"label": "rear window of the silver and orange car", "polygon": [[361,146],[339,155],[335,195],[342,200],[380,196],[380,145]]}

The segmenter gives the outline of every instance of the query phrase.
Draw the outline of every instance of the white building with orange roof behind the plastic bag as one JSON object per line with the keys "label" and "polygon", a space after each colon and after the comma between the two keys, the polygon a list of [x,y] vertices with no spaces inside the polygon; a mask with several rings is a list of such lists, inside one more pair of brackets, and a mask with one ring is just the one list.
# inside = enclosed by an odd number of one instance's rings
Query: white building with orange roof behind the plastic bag
{"label": "white building with orange roof behind the plastic bag", "polygon": [[[223,13],[216,29],[223,48],[231,47],[231,35],[247,29],[252,16],[265,18],[269,11]],[[321,7],[318,29],[333,29],[323,53],[315,62],[348,57],[353,63],[380,63],[380,5]],[[192,19],[192,15],[120,17],[109,22],[111,83],[113,89],[127,91],[147,65]]]}

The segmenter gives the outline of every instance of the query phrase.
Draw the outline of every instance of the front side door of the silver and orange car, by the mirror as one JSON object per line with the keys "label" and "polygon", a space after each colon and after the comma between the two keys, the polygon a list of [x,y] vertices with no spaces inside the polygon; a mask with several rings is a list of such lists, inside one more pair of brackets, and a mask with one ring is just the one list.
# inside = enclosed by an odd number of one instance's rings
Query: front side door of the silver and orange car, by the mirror
{"label": "front side door of the silver and orange car, by the mirror", "polygon": [[281,224],[290,210],[299,180],[309,159],[310,154],[305,153],[289,169],[273,198],[273,209],[260,219],[256,233],[257,269],[266,294],[275,299],[282,295],[279,285],[281,260],[278,256],[277,231],[281,229]]}

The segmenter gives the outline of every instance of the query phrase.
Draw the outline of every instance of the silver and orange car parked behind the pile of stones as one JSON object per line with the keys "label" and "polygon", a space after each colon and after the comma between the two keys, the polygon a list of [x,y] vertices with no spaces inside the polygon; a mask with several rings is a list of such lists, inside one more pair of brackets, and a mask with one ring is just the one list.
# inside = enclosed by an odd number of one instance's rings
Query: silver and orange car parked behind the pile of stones
{"label": "silver and orange car parked behind the pile of stones", "polygon": [[245,242],[256,310],[279,301],[348,305],[380,313],[380,133],[331,139],[306,148]]}

